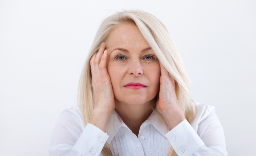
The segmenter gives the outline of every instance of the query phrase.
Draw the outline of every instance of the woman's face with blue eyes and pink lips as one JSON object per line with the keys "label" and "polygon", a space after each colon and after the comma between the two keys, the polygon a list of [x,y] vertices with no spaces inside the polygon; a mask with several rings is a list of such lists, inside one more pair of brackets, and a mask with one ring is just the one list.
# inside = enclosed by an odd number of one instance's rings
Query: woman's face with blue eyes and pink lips
{"label": "woman's face with blue eyes and pink lips", "polygon": [[[152,100],[160,87],[160,65],[157,56],[139,29],[123,24],[107,41],[107,71],[115,99],[127,104],[143,104]],[[129,85],[140,83],[143,86]]]}

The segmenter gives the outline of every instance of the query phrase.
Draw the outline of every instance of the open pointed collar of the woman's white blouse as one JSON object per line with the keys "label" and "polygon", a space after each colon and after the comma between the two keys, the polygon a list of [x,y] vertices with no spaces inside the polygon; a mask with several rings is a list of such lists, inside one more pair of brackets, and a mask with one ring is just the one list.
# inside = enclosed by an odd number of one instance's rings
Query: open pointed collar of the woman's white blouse
{"label": "open pointed collar of the woman's white blouse", "polygon": [[[169,131],[169,127],[163,123],[161,118],[164,120],[163,116],[155,108],[155,110],[151,113],[151,115],[148,117],[148,119],[145,122],[150,122],[163,136],[165,136],[165,134]],[[142,125],[141,125],[141,128],[143,127]],[[110,144],[113,137],[115,136],[115,134],[117,133],[117,131],[120,129],[121,126],[124,126],[130,130],[130,128],[123,122],[122,118],[118,115],[118,113],[114,109],[108,121],[107,129],[106,129],[107,135],[109,136],[107,139],[108,144]]]}

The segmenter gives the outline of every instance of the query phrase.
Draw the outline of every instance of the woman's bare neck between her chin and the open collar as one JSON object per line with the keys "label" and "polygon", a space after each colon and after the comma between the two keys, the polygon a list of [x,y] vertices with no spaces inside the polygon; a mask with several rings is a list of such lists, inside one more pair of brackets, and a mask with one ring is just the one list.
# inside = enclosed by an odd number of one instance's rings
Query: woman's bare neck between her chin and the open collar
{"label": "woman's bare neck between her chin and the open collar", "polygon": [[124,123],[138,137],[141,124],[151,115],[155,104],[155,98],[144,104],[127,104],[115,99],[115,110]]}

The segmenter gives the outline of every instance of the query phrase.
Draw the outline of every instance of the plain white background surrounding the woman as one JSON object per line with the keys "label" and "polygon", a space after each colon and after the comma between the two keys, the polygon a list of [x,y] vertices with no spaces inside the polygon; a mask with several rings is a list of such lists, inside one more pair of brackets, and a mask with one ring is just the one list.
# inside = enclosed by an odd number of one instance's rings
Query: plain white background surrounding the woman
{"label": "plain white background surrounding the woman", "polygon": [[61,111],[77,105],[101,21],[141,9],[168,28],[192,81],[215,106],[228,155],[255,155],[256,1],[0,0],[0,155],[47,156]]}

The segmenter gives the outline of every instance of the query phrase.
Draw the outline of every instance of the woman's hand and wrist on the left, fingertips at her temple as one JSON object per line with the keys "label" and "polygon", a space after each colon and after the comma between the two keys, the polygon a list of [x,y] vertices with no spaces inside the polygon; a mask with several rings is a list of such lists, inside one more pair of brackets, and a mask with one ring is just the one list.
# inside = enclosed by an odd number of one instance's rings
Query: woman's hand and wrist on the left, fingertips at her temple
{"label": "woman's hand and wrist on the left, fingertips at her temple", "polygon": [[114,93],[110,76],[106,69],[108,51],[103,42],[98,52],[90,60],[92,88],[94,93],[94,110],[88,123],[106,131],[108,120],[115,109]]}

